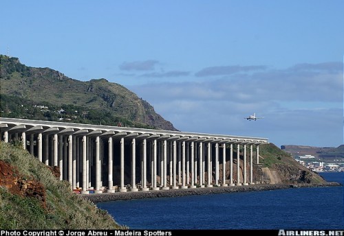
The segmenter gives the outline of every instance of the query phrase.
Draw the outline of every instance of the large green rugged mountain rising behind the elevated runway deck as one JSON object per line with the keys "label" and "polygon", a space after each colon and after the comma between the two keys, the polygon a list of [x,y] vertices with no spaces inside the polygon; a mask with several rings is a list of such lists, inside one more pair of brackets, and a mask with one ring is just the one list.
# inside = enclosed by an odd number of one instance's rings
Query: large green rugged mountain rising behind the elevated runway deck
{"label": "large green rugged mountain rising behind the elevated runway deck", "polygon": [[177,130],[148,102],[105,79],[82,82],[0,55],[0,82],[2,117]]}

